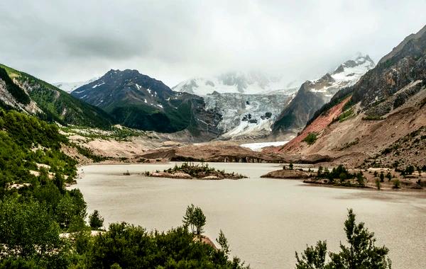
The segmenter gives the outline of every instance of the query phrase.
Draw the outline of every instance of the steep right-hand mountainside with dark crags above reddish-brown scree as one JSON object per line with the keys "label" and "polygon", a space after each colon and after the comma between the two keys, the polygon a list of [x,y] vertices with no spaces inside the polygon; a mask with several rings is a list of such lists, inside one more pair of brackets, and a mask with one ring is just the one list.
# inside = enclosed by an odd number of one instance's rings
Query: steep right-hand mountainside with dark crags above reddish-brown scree
{"label": "steep right-hand mountainside with dark crags above reddish-brown scree", "polygon": [[279,151],[332,156],[350,166],[422,166],[425,105],[426,26],[337,92]]}

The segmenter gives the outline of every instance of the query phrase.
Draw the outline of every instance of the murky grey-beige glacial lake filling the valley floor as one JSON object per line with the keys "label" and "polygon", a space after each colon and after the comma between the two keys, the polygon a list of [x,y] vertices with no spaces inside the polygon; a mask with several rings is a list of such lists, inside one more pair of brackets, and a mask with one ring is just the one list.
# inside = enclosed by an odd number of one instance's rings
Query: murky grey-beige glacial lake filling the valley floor
{"label": "murky grey-beige glacial lake filling the valley floor", "polygon": [[[327,239],[336,251],[345,241],[347,208],[376,234],[376,245],[390,248],[393,268],[426,268],[426,193],[326,188],[301,181],[266,179],[278,164],[210,164],[242,173],[239,181],[148,178],[170,164],[91,165],[79,168],[77,181],[88,212],[99,210],[105,223],[129,222],[160,231],[182,224],[191,203],[207,217],[204,234],[212,241],[219,229],[231,255],[251,268],[295,268],[295,251]],[[124,176],[129,171],[131,176]]]}

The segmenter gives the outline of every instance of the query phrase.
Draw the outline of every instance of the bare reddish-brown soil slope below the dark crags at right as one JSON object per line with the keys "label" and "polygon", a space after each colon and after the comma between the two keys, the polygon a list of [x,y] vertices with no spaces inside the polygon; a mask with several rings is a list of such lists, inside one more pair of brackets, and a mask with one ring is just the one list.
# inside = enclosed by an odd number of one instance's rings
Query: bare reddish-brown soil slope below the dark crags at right
{"label": "bare reddish-brown soil slope below the dark crags at right", "polygon": [[[300,156],[330,156],[330,161],[325,161],[323,166],[343,164],[349,168],[391,167],[395,160],[399,161],[400,167],[423,166],[426,164],[426,137],[418,135],[417,138],[405,139],[403,142],[398,139],[426,126],[426,109],[422,106],[424,100],[425,89],[378,120],[365,120],[366,115],[355,106],[354,117],[343,122],[332,122],[342,112],[343,101],[327,115],[314,120],[284,147],[266,151]],[[309,132],[317,132],[317,140],[312,145],[302,141]],[[389,151],[388,154],[383,154],[385,149],[394,146],[398,147],[398,153]]]}

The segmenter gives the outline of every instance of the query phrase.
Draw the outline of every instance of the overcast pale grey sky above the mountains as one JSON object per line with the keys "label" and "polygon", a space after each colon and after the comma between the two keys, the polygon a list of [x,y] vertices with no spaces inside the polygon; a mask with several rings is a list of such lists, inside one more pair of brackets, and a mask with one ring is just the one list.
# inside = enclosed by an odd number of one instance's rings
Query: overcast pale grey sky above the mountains
{"label": "overcast pale grey sky above the mountains", "polygon": [[316,79],[375,61],[426,24],[426,1],[0,1],[0,62],[48,82],[138,69],[175,86],[261,71]]}

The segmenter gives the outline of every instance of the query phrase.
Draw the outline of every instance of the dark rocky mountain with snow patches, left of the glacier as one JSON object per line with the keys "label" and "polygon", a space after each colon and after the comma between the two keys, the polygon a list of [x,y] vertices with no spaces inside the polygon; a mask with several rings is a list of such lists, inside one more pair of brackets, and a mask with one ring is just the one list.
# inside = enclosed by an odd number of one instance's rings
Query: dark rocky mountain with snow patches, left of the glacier
{"label": "dark rocky mountain with snow patches, left of the glacier", "polygon": [[137,70],[111,69],[71,94],[102,108],[127,127],[158,132],[189,130],[192,135],[207,137],[220,133],[217,124],[221,116],[215,110],[205,110],[203,98],[172,91]]}

